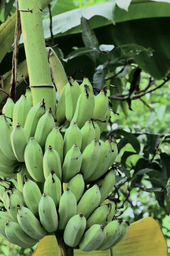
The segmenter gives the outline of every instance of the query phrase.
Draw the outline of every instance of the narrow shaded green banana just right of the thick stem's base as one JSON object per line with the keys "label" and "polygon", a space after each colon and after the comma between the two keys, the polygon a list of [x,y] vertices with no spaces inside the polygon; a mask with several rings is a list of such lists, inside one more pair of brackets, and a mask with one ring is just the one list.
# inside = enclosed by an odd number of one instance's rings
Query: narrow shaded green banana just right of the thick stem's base
{"label": "narrow shaded green banana just right of the thick stem's base", "polygon": [[[67,83],[69,84],[69,82]],[[64,124],[66,117],[65,117],[65,88],[66,85],[64,86],[62,93],[59,97],[59,102],[57,104],[57,109],[56,109],[56,119],[57,119],[57,126],[61,126]]]}

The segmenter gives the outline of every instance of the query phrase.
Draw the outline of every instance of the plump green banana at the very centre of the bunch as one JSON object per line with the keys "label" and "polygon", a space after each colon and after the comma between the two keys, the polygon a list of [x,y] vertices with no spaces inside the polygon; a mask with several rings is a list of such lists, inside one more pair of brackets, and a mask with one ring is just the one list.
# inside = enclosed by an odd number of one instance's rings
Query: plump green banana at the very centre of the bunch
{"label": "plump green banana at the very centre of the bunch", "polygon": [[67,152],[62,166],[62,181],[68,183],[80,170],[82,153],[77,144]]}

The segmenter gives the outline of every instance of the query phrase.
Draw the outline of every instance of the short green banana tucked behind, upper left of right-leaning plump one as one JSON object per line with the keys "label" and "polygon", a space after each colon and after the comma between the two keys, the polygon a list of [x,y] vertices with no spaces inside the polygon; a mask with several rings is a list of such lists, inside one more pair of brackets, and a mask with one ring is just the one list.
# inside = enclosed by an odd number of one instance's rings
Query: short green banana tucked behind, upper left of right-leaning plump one
{"label": "short green banana tucked behind, upper left of right-leaning plump one", "polygon": [[77,173],[67,185],[71,192],[75,195],[77,202],[82,197],[83,191],[85,189],[85,182],[83,180],[83,175],[81,172]]}

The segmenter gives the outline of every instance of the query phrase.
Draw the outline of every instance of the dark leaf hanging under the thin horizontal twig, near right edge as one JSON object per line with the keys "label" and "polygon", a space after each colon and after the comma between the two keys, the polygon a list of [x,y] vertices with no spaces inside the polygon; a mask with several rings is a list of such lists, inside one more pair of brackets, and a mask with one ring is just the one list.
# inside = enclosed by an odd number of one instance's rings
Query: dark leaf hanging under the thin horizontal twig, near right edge
{"label": "dark leaf hanging under the thin horizontal twig, near right edge", "polygon": [[159,141],[161,138],[161,134],[154,134],[154,133],[146,133],[147,136],[147,145],[150,154],[156,153],[156,148],[159,145]]}

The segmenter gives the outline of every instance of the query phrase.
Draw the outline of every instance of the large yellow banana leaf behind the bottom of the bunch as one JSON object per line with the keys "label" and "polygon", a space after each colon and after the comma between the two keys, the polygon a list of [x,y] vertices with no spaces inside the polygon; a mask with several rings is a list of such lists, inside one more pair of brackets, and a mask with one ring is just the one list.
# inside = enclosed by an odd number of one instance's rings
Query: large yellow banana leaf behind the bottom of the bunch
{"label": "large yellow banana leaf behind the bottom of the bunch", "polygon": [[[59,248],[55,236],[45,236],[33,256],[57,256]],[[130,224],[125,238],[111,250],[82,252],[74,250],[75,256],[168,256],[167,244],[161,227],[153,218],[142,218]]]}

